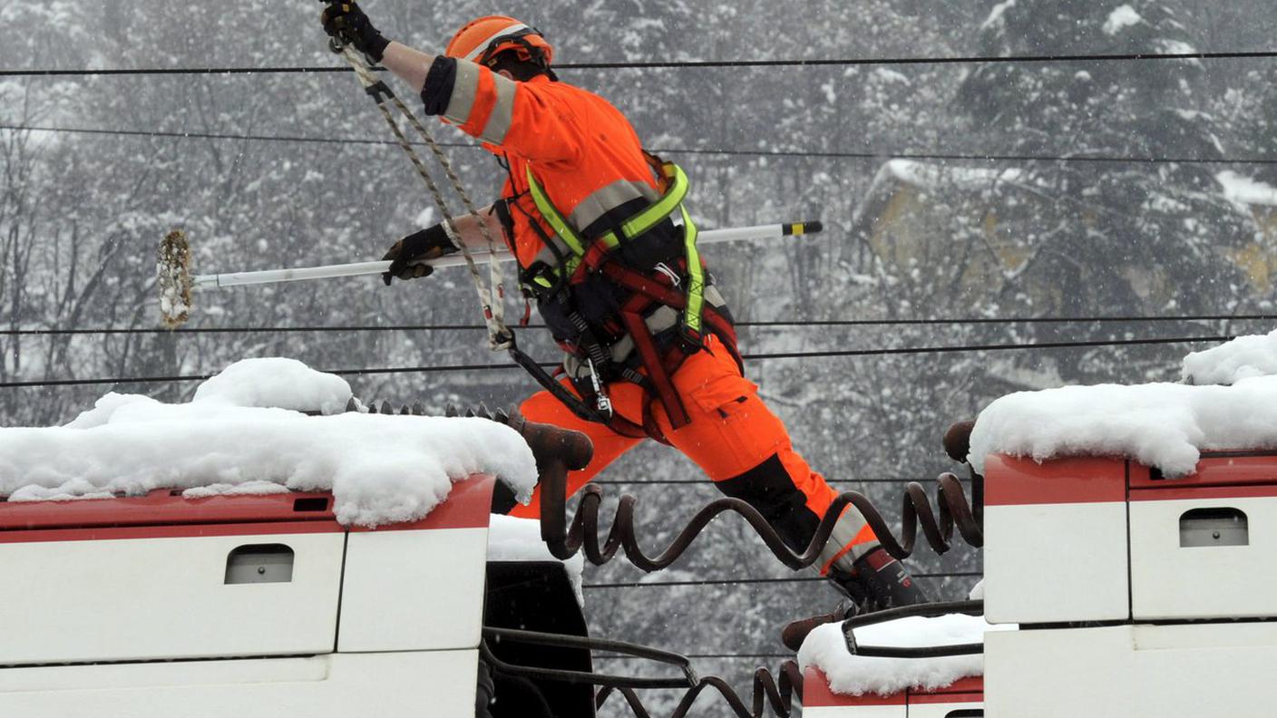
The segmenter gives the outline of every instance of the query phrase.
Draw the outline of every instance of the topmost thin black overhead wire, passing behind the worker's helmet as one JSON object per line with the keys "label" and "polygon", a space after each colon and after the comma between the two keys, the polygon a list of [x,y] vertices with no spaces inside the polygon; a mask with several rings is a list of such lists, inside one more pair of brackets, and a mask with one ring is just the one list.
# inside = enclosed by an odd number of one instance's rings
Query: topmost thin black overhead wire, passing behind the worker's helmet
{"label": "topmost thin black overhead wire, passing behind the worker's helmet", "polygon": [[[838,57],[783,60],[676,60],[654,63],[564,63],[555,70],[621,69],[714,69],[714,68],[850,68],[881,65],[1011,65],[1054,63],[1138,63],[1174,60],[1258,60],[1277,57],[1273,50],[1236,52],[1121,52],[1048,55],[972,55],[958,57]],[[386,68],[374,68],[384,72]],[[262,74],[345,74],[350,68],[336,65],[264,68],[116,68],[116,69],[27,69],[0,70],[0,77],[130,77],[130,75],[262,75]]]}

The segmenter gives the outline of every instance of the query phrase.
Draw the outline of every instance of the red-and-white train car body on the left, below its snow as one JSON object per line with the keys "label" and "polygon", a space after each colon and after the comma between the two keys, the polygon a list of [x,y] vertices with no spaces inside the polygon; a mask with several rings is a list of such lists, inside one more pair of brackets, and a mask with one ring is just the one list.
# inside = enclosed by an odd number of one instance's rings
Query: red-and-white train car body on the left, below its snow
{"label": "red-and-white train car body on the left, below its snow", "polygon": [[324,493],[0,503],[0,714],[472,715],[492,488],[378,530]]}

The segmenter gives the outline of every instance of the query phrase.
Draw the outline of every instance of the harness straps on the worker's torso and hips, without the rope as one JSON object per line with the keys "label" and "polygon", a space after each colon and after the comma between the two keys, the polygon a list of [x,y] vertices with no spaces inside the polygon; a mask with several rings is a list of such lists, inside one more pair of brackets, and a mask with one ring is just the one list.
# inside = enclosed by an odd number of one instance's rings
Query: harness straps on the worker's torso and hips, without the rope
{"label": "harness straps on the worker's torso and hips, without the rope", "polygon": [[[577,340],[570,350],[575,349],[577,360],[584,362],[589,382],[578,381],[578,377],[572,378],[577,392],[593,400],[594,411],[600,415],[595,420],[604,420],[624,436],[651,436],[665,441],[651,418],[650,401],[644,402],[642,425],[637,427],[612,411],[607,385],[618,378],[640,385],[660,401],[670,425],[678,429],[687,425],[691,418],[670,377],[687,356],[705,348],[706,330],[720,339],[737,362],[739,356],[736,348],[736,330],[730,321],[714,304],[706,302],[707,281],[705,266],[696,248],[697,229],[683,204],[688,190],[687,175],[673,162],[665,162],[654,155],[646,156],[658,179],[660,199],[593,238],[582,236],[572,227],[549,199],[531,167],[527,167],[527,187],[533,202],[571,256],[559,257],[553,266],[540,264],[539,271],[525,272],[522,286],[539,300],[561,302],[564,314],[576,327]],[[651,271],[641,271],[621,258],[619,249],[641,241],[645,235],[676,215],[682,220],[683,254],[673,267],[658,262]],[[552,238],[541,239],[547,247],[554,248]],[[573,287],[582,285],[591,275],[601,275],[628,294],[618,312],[623,332],[608,332],[619,333],[622,339],[612,345],[604,345],[598,339],[599,332],[595,327],[590,326],[572,305]],[[677,321],[668,321],[670,312],[677,314]],[[674,341],[668,337],[670,332],[676,335]],[[633,342],[632,349],[624,344],[626,337]],[[618,348],[624,356],[617,355]],[[562,390],[558,382],[554,383]],[[562,393],[571,396],[566,391]],[[559,396],[561,401],[566,399],[559,392],[555,392],[555,396]],[[575,401],[575,397],[572,400]],[[571,401],[566,402],[572,408]]]}

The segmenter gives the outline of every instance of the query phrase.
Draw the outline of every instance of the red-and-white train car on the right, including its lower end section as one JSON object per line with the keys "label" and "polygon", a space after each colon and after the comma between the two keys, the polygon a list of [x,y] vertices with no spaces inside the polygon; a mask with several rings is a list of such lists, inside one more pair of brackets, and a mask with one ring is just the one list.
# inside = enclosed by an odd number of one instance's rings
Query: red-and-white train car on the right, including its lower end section
{"label": "red-and-white train car on the right, including its lower end section", "polygon": [[1174,479],[1112,456],[983,469],[982,608],[1018,630],[939,691],[839,695],[808,666],[805,715],[1272,715],[1277,452],[1203,452]]}

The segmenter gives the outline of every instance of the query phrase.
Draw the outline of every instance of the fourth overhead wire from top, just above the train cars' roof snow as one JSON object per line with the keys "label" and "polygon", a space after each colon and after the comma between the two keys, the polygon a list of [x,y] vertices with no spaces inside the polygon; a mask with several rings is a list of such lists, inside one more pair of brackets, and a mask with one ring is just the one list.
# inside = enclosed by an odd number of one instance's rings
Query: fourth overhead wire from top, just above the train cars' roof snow
{"label": "fourth overhead wire from top, just above the train cars' roof snow", "polygon": [[[835,356],[891,356],[891,355],[923,355],[923,354],[958,354],[958,353],[978,353],[978,351],[1016,351],[1016,350],[1033,350],[1033,349],[1085,349],[1085,348],[1099,348],[1099,346],[1149,346],[1149,345],[1165,345],[1165,344],[1200,344],[1200,342],[1222,342],[1231,341],[1236,339],[1235,336],[1199,336],[1199,337],[1167,337],[1167,339],[1128,339],[1128,340],[1094,340],[1094,341],[1051,341],[1051,342],[1029,342],[1029,344],[983,344],[983,345],[965,345],[965,346],[923,346],[923,348],[900,348],[900,349],[850,349],[850,350],[833,350],[833,351],[785,351],[776,354],[744,354],[743,359],[747,362],[760,362],[769,359],[827,359]],[[558,367],[558,363],[547,362],[541,363],[541,367],[552,369]],[[453,373],[453,372],[508,372],[520,369],[516,364],[462,364],[462,365],[439,365],[439,367],[391,367],[391,368],[377,368],[377,369],[331,369],[326,370],[328,374],[337,374],[344,377],[361,377],[361,376],[378,376],[378,374],[435,374],[435,373]],[[55,387],[55,386],[100,386],[100,385],[123,385],[123,383],[176,383],[176,382],[197,382],[206,381],[211,378],[212,374],[195,374],[195,376],[175,376],[175,377],[132,377],[132,378],[114,378],[114,379],[43,379],[43,381],[10,381],[0,382],[0,388],[31,388],[31,387]]]}

